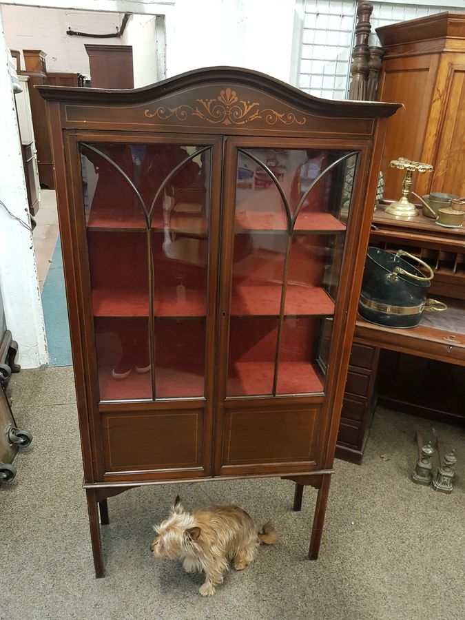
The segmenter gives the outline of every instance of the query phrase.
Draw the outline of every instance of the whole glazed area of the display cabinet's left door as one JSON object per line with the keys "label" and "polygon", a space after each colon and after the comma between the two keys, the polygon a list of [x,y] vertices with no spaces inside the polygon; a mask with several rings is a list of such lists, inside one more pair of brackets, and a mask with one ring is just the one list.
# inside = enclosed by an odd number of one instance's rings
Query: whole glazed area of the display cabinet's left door
{"label": "whole glazed area of the display cabinet's left door", "polygon": [[101,400],[203,395],[209,149],[81,145]]}

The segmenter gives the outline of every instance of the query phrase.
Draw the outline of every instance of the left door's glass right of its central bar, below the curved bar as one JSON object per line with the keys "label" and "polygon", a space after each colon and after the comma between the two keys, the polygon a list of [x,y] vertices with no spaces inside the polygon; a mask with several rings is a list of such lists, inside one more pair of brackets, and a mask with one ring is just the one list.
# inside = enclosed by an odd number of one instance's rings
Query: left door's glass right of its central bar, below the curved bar
{"label": "left door's glass right of its central bar, below the curved bar", "polygon": [[204,394],[210,161],[209,151],[190,159],[154,205],[157,398]]}

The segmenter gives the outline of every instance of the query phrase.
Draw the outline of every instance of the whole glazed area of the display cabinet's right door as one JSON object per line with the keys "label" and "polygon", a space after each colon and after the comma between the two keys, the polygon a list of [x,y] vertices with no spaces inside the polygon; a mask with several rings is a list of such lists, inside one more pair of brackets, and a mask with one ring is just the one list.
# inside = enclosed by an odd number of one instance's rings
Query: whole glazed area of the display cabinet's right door
{"label": "whole glazed area of the display cabinet's right door", "polygon": [[238,149],[227,395],[318,393],[357,154]]}

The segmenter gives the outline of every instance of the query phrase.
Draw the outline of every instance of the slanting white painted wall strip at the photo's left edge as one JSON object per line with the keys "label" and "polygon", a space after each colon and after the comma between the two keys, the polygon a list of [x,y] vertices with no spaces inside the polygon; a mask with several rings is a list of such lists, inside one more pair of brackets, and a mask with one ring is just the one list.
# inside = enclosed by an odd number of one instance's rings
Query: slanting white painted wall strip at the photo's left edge
{"label": "slanting white painted wall strip at the photo's left edge", "polygon": [[[30,225],[21,145],[0,12],[0,200]],[[26,368],[48,362],[32,233],[0,205],[0,288],[8,329]]]}

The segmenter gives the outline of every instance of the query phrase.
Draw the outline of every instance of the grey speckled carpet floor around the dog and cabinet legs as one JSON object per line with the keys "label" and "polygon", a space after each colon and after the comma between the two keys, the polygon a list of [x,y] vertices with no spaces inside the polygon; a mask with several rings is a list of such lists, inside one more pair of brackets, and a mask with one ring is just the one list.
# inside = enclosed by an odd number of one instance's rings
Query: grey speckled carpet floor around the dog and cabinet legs
{"label": "grey speckled carpet floor around the dog and cabinet legs", "polygon": [[[335,463],[320,559],[306,559],[316,491],[293,513],[280,479],[138,488],[110,498],[107,576],[94,579],[70,368],[12,379],[19,426],[34,444],[0,489],[0,618],[394,619],[465,618],[465,432],[379,409],[362,466]],[[415,486],[413,431],[457,451],[452,495]],[[149,557],[151,526],[180,493],[187,506],[235,502],[280,539],[215,597],[200,575]]]}

